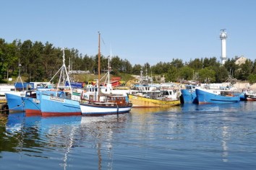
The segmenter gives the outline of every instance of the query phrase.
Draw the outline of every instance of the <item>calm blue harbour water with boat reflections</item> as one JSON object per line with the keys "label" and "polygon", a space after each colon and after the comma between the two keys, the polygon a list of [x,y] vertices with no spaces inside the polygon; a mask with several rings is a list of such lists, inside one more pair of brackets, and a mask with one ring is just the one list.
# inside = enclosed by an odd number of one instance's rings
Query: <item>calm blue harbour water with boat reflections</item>
{"label": "calm blue harbour water with boat reflections", "polygon": [[0,169],[256,169],[256,102],[0,117]]}

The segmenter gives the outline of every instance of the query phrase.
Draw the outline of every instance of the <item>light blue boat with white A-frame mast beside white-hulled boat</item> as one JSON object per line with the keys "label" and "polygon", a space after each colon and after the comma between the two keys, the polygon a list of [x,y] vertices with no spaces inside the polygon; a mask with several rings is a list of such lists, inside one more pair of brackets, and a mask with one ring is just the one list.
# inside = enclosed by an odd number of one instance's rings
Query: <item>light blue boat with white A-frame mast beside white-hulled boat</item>
{"label": "light blue boat with white A-frame mast beside white-hulled boat", "polygon": [[[63,65],[57,71],[60,72],[59,83],[54,94],[41,92],[39,95],[40,111],[42,116],[68,116],[81,115],[80,97],[74,98],[72,94],[72,87],[70,85],[69,74],[65,65],[65,53],[63,49]],[[57,75],[54,75],[54,77]],[[49,81],[51,82],[54,77]],[[61,81],[62,79],[62,81]],[[65,86],[65,81],[68,81],[69,86]]]}

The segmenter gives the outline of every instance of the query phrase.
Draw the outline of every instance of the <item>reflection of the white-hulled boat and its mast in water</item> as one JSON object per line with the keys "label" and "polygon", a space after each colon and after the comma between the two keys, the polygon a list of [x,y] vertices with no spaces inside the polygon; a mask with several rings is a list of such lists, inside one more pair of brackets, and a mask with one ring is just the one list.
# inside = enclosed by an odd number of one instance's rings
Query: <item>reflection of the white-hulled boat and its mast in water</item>
{"label": "reflection of the white-hulled boat and its mast in water", "polygon": [[82,135],[90,138],[91,143],[94,143],[97,148],[98,169],[102,169],[103,165],[107,166],[103,169],[113,169],[114,135],[116,130],[124,128],[123,125],[128,114],[82,117]]}

